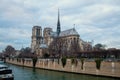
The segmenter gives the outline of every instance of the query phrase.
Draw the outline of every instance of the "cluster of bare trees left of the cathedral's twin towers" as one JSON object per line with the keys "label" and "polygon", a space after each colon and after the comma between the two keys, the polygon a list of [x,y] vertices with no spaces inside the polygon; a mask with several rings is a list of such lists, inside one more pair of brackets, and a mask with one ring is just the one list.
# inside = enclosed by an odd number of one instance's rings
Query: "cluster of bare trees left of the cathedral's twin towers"
{"label": "cluster of bare trees left of the cathedral's twin towers", "polygon": [[34,53],[32,53],[31,48],[21,48],[20,50],[16,50],[13,46],[8,45],[6,48],[2,51],[0,57],[18,57],[18,58],[32,58],[35,56]]}

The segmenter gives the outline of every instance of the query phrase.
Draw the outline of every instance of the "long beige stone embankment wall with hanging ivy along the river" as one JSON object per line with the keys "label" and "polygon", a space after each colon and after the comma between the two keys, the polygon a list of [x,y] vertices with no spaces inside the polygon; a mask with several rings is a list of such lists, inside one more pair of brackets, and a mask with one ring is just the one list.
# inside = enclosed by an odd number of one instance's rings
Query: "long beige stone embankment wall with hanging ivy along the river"
{"label": "long beige stone embankment wall with hanging ivy along the river", "polygon": [[[32,59],[24,59],[24,64],[22,59],[6,59],[6,62],[19,66],[33,67]],[[35,68],[120,78],[120,62],[102,61],[100,70],[97,70],[95,61],[84,61],[83,69],[81,69],[81,61],[79,59],[77,65],[71,64],[71,59],[67,59],[64,68],[61,60],[38,59]]]}

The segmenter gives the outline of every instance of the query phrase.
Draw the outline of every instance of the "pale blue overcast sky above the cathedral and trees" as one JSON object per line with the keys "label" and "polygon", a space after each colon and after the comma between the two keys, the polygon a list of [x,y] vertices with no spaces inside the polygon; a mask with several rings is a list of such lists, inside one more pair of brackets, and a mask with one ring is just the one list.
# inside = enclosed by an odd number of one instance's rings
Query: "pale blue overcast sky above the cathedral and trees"
{"label": "pale blue overcast sky above the cathedral and trees", "polygon": [[34,25],[74,27],[84,41],[120,48],[120,0],[0,0],[0,52],[30,47]]}

